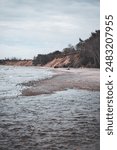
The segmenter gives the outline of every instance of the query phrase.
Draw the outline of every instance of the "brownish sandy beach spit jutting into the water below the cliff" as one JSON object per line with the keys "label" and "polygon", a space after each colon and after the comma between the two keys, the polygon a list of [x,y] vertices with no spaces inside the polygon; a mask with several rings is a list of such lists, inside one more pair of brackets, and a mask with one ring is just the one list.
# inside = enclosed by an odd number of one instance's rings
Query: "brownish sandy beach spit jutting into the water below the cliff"
{"label": "brownish sandy beach spit jutting into the water below the cliff", "polygon": [[[54,69],[56,75],[50,79],[30,82],[32,87],[28,87],[22,91],[24,96],[50,94],[55,91],[65,89],[86,89],[96,90],[100,89],[100,70],[99,69]],[[27,84],[28,86],[30,84]],[[30,85],[30,86],[31,86]]]}

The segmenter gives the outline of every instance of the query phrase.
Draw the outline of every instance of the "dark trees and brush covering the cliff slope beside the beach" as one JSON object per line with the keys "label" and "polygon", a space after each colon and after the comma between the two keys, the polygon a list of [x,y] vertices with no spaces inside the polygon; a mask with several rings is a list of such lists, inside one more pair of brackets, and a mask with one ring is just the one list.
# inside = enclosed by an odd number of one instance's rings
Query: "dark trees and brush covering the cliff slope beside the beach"
{"label": "dark trees and brush covering the cliff slope beside the beach", "polygon": [[[46,65],[54,59],[68,56],[69,62],[61,67],[100,67],[100,30],[91,33],[91,36],[75,45],[69,45],[62,51],[54,51],[49,54],[38,54],[33,59],[33,65]],[[57,67],[57,66],[56,66]]]}

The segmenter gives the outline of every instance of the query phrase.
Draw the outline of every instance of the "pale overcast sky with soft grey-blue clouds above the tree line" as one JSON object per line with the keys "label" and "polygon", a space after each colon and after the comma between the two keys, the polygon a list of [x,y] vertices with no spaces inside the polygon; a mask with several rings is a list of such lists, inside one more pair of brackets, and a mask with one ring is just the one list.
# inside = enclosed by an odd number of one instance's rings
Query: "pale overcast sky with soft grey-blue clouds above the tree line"
{"label": "pale overcast sky with soft grey-blue clouds above the tree line", "polygon": [[99,0],[0,0],[0,59],[62,50],[99,29]]}

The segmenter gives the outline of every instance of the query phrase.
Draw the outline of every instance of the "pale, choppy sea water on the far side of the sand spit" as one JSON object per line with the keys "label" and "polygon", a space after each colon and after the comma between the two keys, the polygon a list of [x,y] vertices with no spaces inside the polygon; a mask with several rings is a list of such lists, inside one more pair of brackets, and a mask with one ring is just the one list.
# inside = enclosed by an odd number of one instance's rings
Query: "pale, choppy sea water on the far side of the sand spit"
{"label": "pale, choppy sea water on the far side of the sand spit", "polygon": [[55,73],[39,67],[0,66],[0,97],[21,94],[21,83],[50,78]]}

